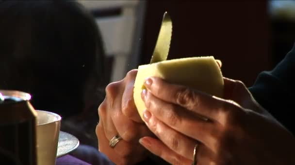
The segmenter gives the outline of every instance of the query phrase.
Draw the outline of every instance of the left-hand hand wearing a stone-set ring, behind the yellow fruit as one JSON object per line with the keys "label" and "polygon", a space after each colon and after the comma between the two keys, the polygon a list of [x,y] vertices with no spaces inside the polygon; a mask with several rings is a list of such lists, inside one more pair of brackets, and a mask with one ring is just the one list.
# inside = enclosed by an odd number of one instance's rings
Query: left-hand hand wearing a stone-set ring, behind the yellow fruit
{"label": "left-hand hand wearing a stone-set ring, behind the yellow fruit", "polygon": [[[155,137],[141,120],[134,104],[136,74],[137,70],[131,70],[123,80],[110,83],[98,108],[98,149],[117,165],[132,165],[146,159],[149,152],[138,140],[145,136]],[[123,139],[111,148],[109,141],[116,135]]]}

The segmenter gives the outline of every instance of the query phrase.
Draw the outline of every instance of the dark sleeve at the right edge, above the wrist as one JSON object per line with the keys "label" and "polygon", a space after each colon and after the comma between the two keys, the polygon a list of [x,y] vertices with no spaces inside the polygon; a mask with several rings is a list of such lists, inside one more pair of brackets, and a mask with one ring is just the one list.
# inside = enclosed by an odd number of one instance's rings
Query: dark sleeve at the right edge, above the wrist
{"label": "dark sleeve at the right edge, above the wrist", "polygon": [[249,88],[256,101],[295,134],[295,46],[271,71],[259,74]]}

